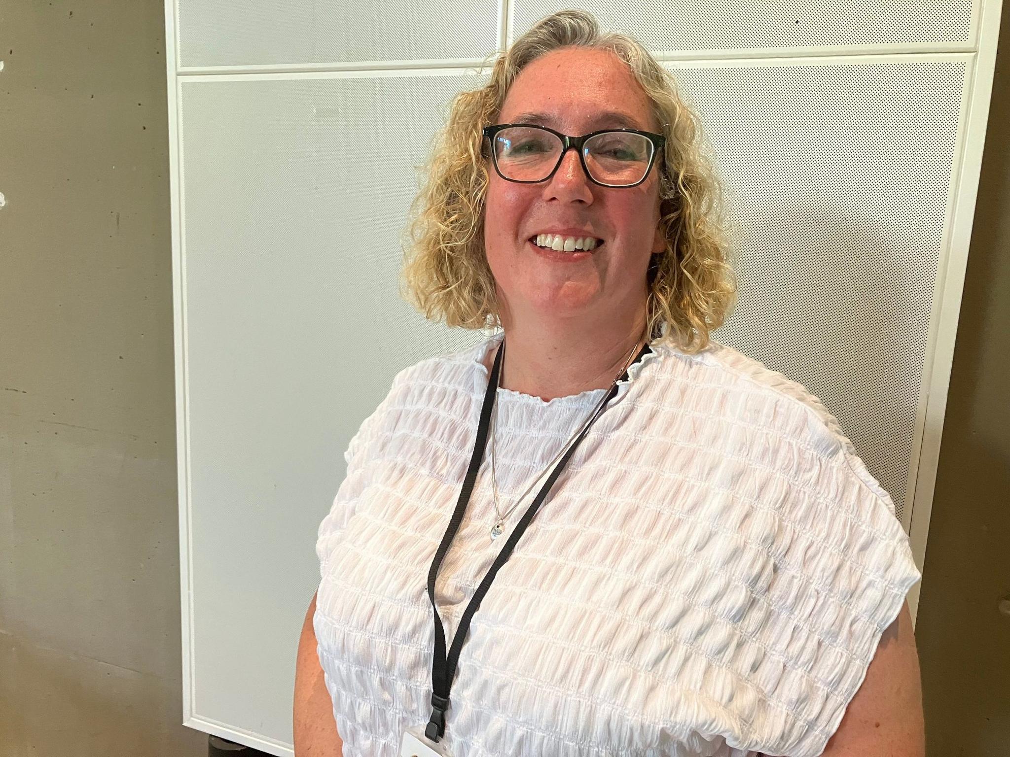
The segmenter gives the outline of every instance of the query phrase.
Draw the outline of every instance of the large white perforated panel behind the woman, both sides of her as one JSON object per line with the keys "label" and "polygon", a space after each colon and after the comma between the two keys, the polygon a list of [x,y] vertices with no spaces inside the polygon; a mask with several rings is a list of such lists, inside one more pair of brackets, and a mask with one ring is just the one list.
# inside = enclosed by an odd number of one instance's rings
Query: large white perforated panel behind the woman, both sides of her
{"label": "large white perforated panel behind the woman, both sides of her", "polygon": [[[674,73],[704,113],[740,226],[740,305],[715,337],[818,395],[903,508],[964,61]],[[306,585],[315,566],[288,540],[312,532],[324,513],[306,504],[327,502],[338,483],[326,450],[345,446],[334,435],[349,438],[355,424],[334,420],[360,422],[388,390],[360,384],[361,366],[392,375],[481,338],[429,328],[396,294],[411,167],[440,123],[438,104],[465,81],[182,86],[203,717],[289,733],[288,714],[263,691],[293,684],[290,660],[274,653],[305,601],[287,589],[292,555]],[[409,354],[383,349],[391,329]]]}

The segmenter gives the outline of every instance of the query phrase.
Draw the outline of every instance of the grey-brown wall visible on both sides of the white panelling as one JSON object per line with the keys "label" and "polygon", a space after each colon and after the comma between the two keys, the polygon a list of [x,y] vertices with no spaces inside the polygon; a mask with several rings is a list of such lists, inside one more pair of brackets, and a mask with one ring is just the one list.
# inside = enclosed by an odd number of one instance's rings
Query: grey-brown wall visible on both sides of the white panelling
{"label": "grey-brown wall visible on both sides of the white panelling", "polygon": [[[203,755],[180,725],[163,5],[12,3],[2,23],[0,756]],[[1005,69],[919,606],[932,757],[1010,744]]]}

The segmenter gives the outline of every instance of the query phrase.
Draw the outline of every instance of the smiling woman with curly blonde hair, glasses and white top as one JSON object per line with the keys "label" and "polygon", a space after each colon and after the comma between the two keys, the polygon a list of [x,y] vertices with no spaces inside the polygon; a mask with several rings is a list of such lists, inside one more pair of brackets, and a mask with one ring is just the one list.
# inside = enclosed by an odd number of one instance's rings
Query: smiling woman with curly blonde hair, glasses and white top
{"label": "smiling woman with curly blonde hair, glasses and white top", "polygon": [[453,102],[406,281],[503,331],[401,371],[348,445],[298,757],[923,753],[889,496],[709,339],[734,289],[696,131],[579,11]]}

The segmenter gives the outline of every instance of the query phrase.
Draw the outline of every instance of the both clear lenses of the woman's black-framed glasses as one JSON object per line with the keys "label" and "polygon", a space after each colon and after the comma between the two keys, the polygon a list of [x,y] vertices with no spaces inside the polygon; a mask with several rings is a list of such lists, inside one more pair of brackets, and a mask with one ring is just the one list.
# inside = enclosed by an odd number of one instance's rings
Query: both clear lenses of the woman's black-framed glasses
{"label": "both clear lenses of the woman's black-framed glasses", "polygon": [[[517,182],[542,182],[564,146],[549,131],[509,126],[495,134],[498,170]],[[590,176],[603,184],[637,184],[645,176],[652,157],[652,142],[642,134],[606,131],[590,137],[582,146]]]}

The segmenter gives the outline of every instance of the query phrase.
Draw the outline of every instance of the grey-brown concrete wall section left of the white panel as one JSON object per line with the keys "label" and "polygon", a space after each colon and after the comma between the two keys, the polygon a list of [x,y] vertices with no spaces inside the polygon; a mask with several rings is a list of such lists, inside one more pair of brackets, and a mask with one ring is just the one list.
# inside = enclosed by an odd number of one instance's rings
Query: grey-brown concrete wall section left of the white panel
{"label": "grey-brown concrete wall section left of the white panel", "polygon": [[[165,15],[0,9],[0,755],[188,757]],[[306,598],[308,600],[308,598]]]}

